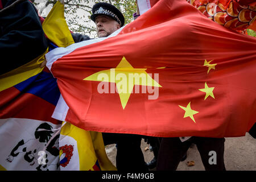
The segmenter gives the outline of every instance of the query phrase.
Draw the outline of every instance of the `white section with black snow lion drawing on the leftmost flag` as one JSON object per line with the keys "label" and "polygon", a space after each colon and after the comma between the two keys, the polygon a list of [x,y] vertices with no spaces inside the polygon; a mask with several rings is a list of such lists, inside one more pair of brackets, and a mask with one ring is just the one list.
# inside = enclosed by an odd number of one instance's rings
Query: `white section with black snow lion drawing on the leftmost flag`
{"label": "white section with black snow lion drawing on the leftmost flag", "polygon": [[0,119],[0,169],[8,171],[55,171],[59,168],[61,125],[34,119]]}

